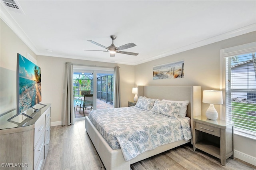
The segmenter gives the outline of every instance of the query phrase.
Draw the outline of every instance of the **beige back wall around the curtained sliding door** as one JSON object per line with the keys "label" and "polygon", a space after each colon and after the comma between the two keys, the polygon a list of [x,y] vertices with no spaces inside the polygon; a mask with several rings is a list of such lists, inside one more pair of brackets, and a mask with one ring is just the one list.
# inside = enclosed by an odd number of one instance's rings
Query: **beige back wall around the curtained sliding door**
{"label": "beige back wall around the curtained sliding door", "polygon": [[[64,89],[65,63],[97,65],[114,67],[118,64],[61,57],[37,56],[37,64],[41,68],[42,103],[52,104],[52,125],[61,125],[62,121],[62,96]],[[120,67],[121,107],[128,107],[128,101],[133,99],[134,66],[118,65]]]}

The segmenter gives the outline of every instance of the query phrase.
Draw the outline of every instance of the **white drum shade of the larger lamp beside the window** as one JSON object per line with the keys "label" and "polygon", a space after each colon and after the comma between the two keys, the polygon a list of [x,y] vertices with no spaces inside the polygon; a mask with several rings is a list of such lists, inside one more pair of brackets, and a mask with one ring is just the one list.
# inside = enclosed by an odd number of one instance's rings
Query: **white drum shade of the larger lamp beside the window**
{"label": "white drum shade of the larger lamp beside the window", "polygon": [[204,90],[203,91],[203,103],[223,104],[222,91]]}

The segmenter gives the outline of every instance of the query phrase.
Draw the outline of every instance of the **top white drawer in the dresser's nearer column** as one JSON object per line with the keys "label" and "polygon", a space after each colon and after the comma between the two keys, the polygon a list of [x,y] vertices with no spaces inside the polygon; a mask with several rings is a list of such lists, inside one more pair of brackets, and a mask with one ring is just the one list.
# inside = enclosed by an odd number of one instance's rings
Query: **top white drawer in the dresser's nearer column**
{"label": "top white drawer in the dresser's nearer column", "polygon": [[36,147],[36,144],[38,143],[38,140],[42,133],[44,133],[45,128],[45,116],[42,115],[38,121],[35,123],[35,131],[34,131],[34,148]]}

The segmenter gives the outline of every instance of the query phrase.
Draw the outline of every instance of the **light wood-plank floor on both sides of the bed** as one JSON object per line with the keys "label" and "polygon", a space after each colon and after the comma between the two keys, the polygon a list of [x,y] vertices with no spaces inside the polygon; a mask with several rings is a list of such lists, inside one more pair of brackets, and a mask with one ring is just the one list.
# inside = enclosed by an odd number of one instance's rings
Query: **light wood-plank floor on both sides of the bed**
{"label": "light wood-plank floor on both sides of the bed", "polygon": [[[238,159],[228,158],[226,166],[220,160],[192,145],[168,150],[131,165],[132,170],[256,170]],[[44,170],[105,170],[88,134],[84,121],[71,126],[51,127],[51,142]]]}

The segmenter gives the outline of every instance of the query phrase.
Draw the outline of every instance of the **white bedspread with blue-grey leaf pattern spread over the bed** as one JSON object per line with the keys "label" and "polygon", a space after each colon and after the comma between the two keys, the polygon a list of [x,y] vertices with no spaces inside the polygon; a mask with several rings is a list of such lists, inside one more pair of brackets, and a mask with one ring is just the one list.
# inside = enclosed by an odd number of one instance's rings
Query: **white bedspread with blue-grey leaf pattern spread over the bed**
{"label": "white bedspread with blue-grey leaf pattern spread over the bed", "polygon": [[138,107],[92,111],[89,119],[113,150],[121,148],[125,160],[163,144],[192,138],[185,118],[172,119]]}

